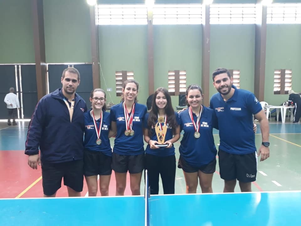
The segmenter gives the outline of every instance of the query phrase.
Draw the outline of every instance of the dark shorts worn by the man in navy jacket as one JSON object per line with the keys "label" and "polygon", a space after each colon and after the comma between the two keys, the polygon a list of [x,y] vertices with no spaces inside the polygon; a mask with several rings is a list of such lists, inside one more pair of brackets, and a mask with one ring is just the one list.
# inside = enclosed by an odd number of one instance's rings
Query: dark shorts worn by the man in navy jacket
{"label": "dark shorts worn by the man in navy jacket", "polygon": [[42,184],[45,195],[53,195],[61,187],[62,178],[64,178],[64,185],[71,187],[74,191],[82,191],[83,160],[42,163]]}

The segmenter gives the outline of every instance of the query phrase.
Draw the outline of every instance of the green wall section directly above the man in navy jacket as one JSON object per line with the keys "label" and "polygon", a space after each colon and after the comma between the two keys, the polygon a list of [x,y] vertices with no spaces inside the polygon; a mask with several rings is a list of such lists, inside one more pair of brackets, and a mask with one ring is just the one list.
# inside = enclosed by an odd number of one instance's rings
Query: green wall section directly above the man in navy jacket
{"label": "green wall section directly above the man in navy jacket", "polygon": [[92,62],[86,1],[44,0],[43,3],[46,62]]}

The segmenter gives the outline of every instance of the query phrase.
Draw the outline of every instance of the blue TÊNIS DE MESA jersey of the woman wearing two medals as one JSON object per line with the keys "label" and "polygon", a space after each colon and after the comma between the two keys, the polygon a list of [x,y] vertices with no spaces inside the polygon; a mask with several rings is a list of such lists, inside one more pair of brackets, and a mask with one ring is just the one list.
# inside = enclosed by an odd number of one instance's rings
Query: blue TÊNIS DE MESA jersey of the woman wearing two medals
{"label": "blue T\u00caNIS DE MESA jersey of the woman wearing two medals", "polygon": [[111,121],[116,122],[117,134],[114,141],[113,152],[121,155],[139,155],[144,153],[143,121],[147,108],[142,104],[135,104],[133,117],[134,136],[125,136],[126,121],[124,117],[123,102],[111,107]]}

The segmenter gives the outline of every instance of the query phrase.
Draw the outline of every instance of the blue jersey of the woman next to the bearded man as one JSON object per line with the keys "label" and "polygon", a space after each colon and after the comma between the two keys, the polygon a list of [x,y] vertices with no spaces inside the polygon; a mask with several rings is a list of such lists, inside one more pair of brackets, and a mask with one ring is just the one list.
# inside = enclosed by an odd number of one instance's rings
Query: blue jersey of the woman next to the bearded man
{"label": "blue jersey of the woman next to the bearded man", "polygon": [[[217,126],[217,119],[212,109],[203,106],[200,117],[200,137],[194,137],[194,126],[190,119],[188,108],[179,114],[181,130],[184,135],[179,148],[181,156],[193,167],[200,167],[211,162],[217,153],[212,134]],[[193,120],[197,122],[197,116],[193,113]]]}

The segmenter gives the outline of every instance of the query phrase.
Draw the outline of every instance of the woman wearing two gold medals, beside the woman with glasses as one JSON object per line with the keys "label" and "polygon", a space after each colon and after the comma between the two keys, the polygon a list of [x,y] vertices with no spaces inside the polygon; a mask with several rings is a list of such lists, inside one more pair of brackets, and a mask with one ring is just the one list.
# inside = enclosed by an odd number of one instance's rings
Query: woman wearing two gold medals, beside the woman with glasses
{"label": "woman wearing two gold medals, beside the woman with glasses", "polygon": [[129,79],[123,83],[120,104],[111,107],[111,127],[116,131],[112,169],[116,178],[116,195],[124,195],[129,171],[132,195],[140,195],[144,170],[143,121],[147,108],[137,103],[139,84]]}

